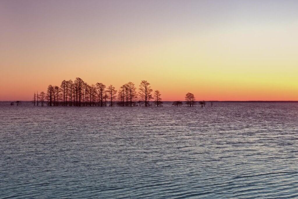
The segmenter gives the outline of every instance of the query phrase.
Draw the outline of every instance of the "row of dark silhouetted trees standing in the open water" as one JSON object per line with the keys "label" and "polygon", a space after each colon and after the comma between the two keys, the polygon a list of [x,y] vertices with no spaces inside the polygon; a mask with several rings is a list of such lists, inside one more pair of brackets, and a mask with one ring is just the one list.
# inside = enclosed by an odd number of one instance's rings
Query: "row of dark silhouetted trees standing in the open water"
{"label": "row of dark silhouetted trees standing in the open water", "polygon": [[[102,83],[87,84],[81,78],[75,81],[63,80],[59,86],[49,85],[46,92],[34,93],[33,105],[44,106],[162,106],[162,98],[159,90],[153,90],[148,81],[142,80],[139,89],[134,83],[123,84],[117,91],[113,85],[106,87]],[[153,101],[153,104],[151,101]],[[188,107],[196,104],[192,93],[185,95],[185,104]],[[181,106],[181,101],[175,101],[173,106]],[[205,106],[205,102],[200,102]]]}

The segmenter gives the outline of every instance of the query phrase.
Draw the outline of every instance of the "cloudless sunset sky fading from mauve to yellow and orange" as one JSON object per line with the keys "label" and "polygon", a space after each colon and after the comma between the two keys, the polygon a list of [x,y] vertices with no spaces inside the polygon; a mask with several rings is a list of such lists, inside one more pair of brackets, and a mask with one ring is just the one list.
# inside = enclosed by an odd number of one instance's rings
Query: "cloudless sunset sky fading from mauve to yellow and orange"
{"label": "cloudless sunset sky fading from mauve to yellow and orange", "polygon": [[82,78],[164,101],[298,100],[298,1],[0,1],[0,100]]}

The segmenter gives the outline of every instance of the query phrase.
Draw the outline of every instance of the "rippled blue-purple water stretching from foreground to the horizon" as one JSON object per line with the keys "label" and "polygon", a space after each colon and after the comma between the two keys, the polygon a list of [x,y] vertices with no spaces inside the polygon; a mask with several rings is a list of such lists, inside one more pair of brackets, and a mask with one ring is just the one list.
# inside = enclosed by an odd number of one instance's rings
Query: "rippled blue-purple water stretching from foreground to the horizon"
{"label": "rippled blue-purple water stretching from foreground to the horizon", "polygon": [[298,198],[298,104],[0,106],[0,198]]}

